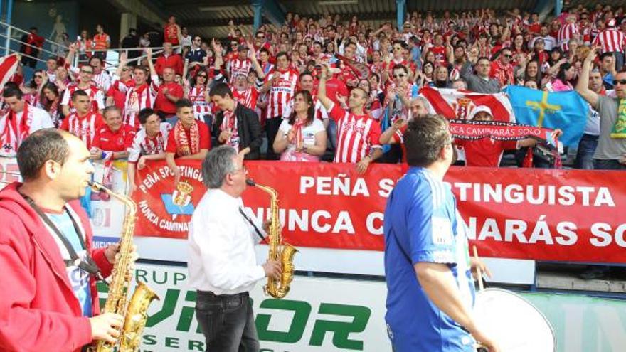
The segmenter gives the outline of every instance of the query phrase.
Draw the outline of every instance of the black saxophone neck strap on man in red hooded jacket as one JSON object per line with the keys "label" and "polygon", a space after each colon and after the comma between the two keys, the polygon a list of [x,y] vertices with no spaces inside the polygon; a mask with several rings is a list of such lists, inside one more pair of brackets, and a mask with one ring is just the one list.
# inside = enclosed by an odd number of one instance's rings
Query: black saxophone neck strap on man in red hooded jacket
{"label": "black saxophone neck strap on man in red hooded jacket", "polygon": [[26,196],[23,193],[20,193],[20,195],[24,198],[26,203],[28,203],[28,205],[31,206],[33,210],[35,210],[35,213],[39,215],[39,218],[41,218],[43,223],[45,223],[48,226],[48,228],[52,230],[52,232],[58,237],[60,242],[63,243],[63,247],[65,247],[65,250],[68,251],[68,254],[70,255],[70,259],[63,260],[65,262],[65,267],[71,267],[75,265],[77,267],[80,267],[80,269],[85,270],[85,272],[91,275],[94,275],[95,277],[97,277],[97,279],[102,280],[102,274],[100,274],[100,268],[98,268],[95,261],[89,255],[89,252],[87,251],[87,245],[85,244],[85,239],[83,238],[83,232],[80,230],[80,227],[78,226],[78,223],[76,222],[75,218],[72,216],[72,213],[68,211],[67,206],[63,206],[63,210],[65,210],[65,213],[68,213],[68,216],[70,220],[72,221],[72,225],[74,226],[74,230],[76,231],[76,235],[78,236],[78,240],[80,241],[81,250],[85,250],[86,252],[85,257],[82,260],[80,259],[80,257],[78,257],[78,253],[76,253],[74,246],[70,243],[68,238],[65,237],[63,233],[60,232],[60,230],[56,227],[56,225],[52,222],[52,220],[50,220],[48,215],[46,215],[46,213],[44,213],[43,210],[41,210],[41,208],[37,206],[35,201],[33,201],[33,198]]}

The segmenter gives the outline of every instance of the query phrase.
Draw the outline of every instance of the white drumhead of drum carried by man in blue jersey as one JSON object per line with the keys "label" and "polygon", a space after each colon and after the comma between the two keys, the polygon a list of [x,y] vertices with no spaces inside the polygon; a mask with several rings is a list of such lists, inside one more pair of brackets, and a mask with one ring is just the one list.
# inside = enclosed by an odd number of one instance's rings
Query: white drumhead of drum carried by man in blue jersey
{"label": "white drumhead of drum carried by man in blue jersey", "polygon": [[502,352],[554,352],[554,331],[541,311],[506,289],[476,293],[474,319]]}

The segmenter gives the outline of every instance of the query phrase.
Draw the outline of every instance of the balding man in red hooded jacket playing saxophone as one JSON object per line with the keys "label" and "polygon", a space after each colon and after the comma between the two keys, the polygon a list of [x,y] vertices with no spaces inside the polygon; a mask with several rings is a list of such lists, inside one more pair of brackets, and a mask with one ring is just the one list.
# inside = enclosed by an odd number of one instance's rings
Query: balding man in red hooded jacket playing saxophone
{"label": "balding man in red hooded jacket playing saxophone", "polygon": [[122,316],[97,315],[95,277],[110,274],[117,246],[92,247],[77,201],[93,173],[87,159],[83,141],[56,129],[18,149],[24,182],[0,191],[0,351],[78,352],[119,335]]}

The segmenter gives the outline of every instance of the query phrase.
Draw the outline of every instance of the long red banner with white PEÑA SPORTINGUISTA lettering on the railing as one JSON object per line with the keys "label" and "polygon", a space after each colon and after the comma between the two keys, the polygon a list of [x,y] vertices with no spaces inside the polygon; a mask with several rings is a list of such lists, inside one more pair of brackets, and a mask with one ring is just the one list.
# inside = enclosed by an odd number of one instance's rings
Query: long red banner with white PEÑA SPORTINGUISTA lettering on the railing
{"label": "long red banner with white PE\u00d1A SPORTINGUISTA lettering on the railing", "polygon": [[[287,242],[297,247],[383,250],[383,212],[401,176],[400,166],[373,164],[364,176],[351,164],[254,161],[246,166],[250,178],[279,193]],[[181,163],[181,179],[193,189],[176,194],[164,162],[139,171],[134,193],[137,235],[186,238],[186,222],[205,191],[199,167],[197,161]],[[453,167],[445,181],[484,256],[626,262],[626,223],[618,216],[626,205],[623,175]],[[186,191],[190,198],[185,198]],[[266,193],[248,188],[243,198],[253,214],[267,217]]]}

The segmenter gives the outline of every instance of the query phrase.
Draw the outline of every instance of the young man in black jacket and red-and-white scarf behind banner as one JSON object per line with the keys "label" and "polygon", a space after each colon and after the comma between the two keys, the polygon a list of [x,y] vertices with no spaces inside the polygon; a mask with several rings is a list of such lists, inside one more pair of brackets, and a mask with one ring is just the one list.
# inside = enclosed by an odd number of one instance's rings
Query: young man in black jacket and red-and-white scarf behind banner
{"label": "young man in black jacket and red-and-white scarf behind banner", "polygon": [[261,124],[256,112],[233,99],[226,83],[219,83],[208,92],[213,104],[220,107],[212,135],[219,144],[228,144],[244,155],[246,160],[260,159],[262,144]]}

